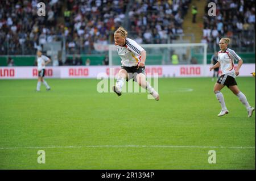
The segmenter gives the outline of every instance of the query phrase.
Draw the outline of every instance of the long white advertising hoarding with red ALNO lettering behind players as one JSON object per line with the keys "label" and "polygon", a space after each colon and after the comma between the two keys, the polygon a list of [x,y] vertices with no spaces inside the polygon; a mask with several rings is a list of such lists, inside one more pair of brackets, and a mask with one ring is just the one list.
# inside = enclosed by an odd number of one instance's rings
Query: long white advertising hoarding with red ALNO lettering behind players
{"label": "long white advertising hoarding with red ALNO lettering behind players", "polygon": [[[148,65],[148,75],[158,73],[158,77],[212,77],[210,65]],[[121,66],[47,66],[46,78],[108,78],[110,72],[117,74]],[[236,65],[235,65],[236,69]],[[255,72],[255,64],[243,64],[240,75],[251,76]],[[220,72],[221,74],[221,72]],[[33,79],[38,77],[36,67],[0,67],[0,79]]]}

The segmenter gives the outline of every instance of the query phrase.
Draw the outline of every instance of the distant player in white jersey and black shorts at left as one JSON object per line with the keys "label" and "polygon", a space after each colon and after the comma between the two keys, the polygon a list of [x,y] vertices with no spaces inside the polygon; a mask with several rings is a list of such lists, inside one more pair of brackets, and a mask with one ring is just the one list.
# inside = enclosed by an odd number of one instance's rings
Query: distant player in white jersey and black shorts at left
{"label": "distant player in white jersey and black shorts at left", "polygon": [[44,56],[40,50],[38,50],[36,54],[36,62],[38,63],[38,85],[36,86],[36,91],[40,91],[41,82],[43,82],[43,84],[46,86],[46,90],[51,90],[51,87],[49,87],[47,82],[44,81],[46,65],[51,62],[51,59],[49,59],[47,56]]}

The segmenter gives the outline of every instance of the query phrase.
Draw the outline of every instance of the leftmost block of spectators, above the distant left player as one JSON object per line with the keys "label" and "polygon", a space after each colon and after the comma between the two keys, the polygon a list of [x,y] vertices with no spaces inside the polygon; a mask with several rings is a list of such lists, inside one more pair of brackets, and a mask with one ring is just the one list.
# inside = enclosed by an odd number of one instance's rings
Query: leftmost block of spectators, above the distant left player
{"label": "leftmost block of spectators, above the distant left player", "polygon": [[39,43],[51,42],[61,31],[56,26],[63,3],[40,1],[46,16],[38,16],[38,1],[0,1],[0,54],[32,54]]}

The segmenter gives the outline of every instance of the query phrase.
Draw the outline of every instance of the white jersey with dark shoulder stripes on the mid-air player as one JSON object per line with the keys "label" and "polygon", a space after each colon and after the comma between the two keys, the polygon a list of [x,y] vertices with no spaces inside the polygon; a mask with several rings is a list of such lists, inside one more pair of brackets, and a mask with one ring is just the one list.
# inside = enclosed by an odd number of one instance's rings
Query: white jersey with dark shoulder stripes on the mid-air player
{"label": "white jersey with dark shoulder stripes on the mid-air player", "polygon": [[125,45],[115,45],[117,53],[121,57],[123,66],[137,66],[141,61],[141,52],[144,50],[136,41],[126,39]]}

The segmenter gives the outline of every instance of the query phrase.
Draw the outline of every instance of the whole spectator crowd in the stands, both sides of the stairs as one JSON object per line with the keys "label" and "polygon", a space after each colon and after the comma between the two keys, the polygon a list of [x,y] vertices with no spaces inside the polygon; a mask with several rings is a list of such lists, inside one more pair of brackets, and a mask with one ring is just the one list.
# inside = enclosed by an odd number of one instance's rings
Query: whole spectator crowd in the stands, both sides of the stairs
{"label": "whole spectator crowd in the stands, both sides of the stairs", "polygon": [[[0,1],[0,54],[34,55],[38,45],[60,40],[65,42],[67,58],[81,54],[85,65],[89,55],[97,54],[103,57],[96,65],[102,65],[106,52],[96,51],[94,44],[113,44],[117,27],[125,27],[129,37],[140,44],[172,43],[182,38],[183,20],[193,3],[192,0],[45,0],[40,2],[47,5],[46,16],[38,16],[38,2]],[[208,16],[209,8],[205,6],[201,42],[208,43],[208,52],[218,49],[218,39],[223,36],[232,38],[232,48],[238,52],[255,52],[255,2],[209,2],[216,3],[217,17]]]}

